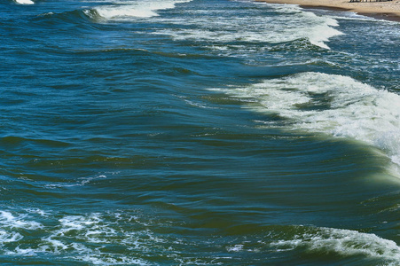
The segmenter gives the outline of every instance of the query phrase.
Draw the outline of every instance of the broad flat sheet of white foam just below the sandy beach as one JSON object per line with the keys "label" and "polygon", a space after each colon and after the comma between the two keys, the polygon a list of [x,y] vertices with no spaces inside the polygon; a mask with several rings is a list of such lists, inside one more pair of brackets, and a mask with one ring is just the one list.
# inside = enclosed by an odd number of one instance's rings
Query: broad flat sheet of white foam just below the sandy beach
{"label": "broad flat sheet of white foam just below the sandy beach", "polygon": [[[249,7],[253,7],[249,4]],[[176,24],[190,27],[161,29],[154,34],[171,35],[176,40],[194,40],[213,43],[284,43],[299,39],[308,39],[310,43],[329,49],[326,42],[342,33],[334,27],[338,21],[328,16],[317,16],[313,12],[305,12],[296,5],[265,5],[278,14],[267,16],[264,13],[251,12],[251,17],[238,14],[237,10],[220,11],[218,19],[209,17],[211,11],[192,11],[191,20],[176,20]],[[204,13],[204,14],[203,14]],[[171,21],[169,21],[171,22]],[[248,46],[248,45],[247,45]],[[222,51],[224,48],[216,47]],[[227,48],[227,46],[225,46]],[[246,49],[246,47],[245,47]]]}

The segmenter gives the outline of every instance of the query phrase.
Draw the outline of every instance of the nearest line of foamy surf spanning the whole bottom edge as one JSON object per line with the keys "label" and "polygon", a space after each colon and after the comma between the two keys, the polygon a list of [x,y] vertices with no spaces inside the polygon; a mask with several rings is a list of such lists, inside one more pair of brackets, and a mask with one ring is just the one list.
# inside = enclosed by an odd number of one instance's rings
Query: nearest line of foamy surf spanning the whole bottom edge
{"label": "nearest line of foamy surf spanning the whole bottom edge", "polygon": [[[209,239],[169,233],[174,223],[154,219],[139,209],[63,214],[7,208],[0,211],[1,254],[98,265],[153,265],[154,259],[184,265],[231,264],[233,260],[246,264],[241,261],[243,255],[271,253],[325,258],[335,254],[326,262],[343,264],[354,259],[375,265],[400,262],[400,246],[374,233],[302,225],[240,225],[226,229],[230,236]],[[32,236],[37,239],[33,241]],[[188,246],[192,252],[181,255]],[[210,247],[224,257],[209,253]]]}

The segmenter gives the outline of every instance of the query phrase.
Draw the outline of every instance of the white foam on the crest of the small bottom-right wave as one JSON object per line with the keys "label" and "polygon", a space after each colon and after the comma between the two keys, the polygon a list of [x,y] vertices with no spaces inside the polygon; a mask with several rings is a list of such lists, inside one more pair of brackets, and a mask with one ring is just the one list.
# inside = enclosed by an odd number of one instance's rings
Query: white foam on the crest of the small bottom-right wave
{"label": "white foam on the crest of the small bottom-right wave", "polygon": [[317,228],[296,235],[294,239],[272,242],[271,246],[278,247],[280,251],[303,247],[310,252],[365,255],[388,262],[400,262],[400,246],[396,242],[382,239],[373,233],[343,229]]}

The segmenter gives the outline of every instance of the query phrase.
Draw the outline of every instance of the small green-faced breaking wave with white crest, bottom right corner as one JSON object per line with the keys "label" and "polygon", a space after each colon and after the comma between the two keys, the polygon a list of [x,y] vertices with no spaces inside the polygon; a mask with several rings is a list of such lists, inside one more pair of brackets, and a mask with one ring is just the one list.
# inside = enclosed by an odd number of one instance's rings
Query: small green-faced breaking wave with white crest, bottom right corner
{"label": "small green-faced breaking wave with white crest, bottom right corner", "polygon": [[[269,252],[290,265],[325,264],[398,265],[400,246],[374,233],[307,225],[267,225],[264,233],[254,233],[259,240],[236,239],[225,246],[230,254]],[[258,229],[260,230],[260,229]],[[255,229],[257,231],[257,229]],[[285,264],[280,262],[280,264]]]}

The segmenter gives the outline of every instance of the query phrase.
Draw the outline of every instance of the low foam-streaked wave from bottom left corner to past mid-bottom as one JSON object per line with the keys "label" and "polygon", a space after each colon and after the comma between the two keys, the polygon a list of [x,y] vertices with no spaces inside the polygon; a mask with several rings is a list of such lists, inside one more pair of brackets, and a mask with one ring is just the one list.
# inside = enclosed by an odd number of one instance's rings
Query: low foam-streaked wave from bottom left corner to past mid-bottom
{"label": "low foam-streaked wave from bottom left corner to past mid-bottom", "polygon": [[[43,264],[216,265],[215,254],[196,251],[197,245],[209,248],[207,244],[169,234],[170,226],[138,210],[74,215],[7,209],[0,211],[0,254],[22,257],[27,263],[49,260]],[[182,255],[188,246],[193,252]]]}

